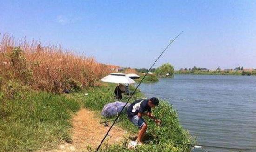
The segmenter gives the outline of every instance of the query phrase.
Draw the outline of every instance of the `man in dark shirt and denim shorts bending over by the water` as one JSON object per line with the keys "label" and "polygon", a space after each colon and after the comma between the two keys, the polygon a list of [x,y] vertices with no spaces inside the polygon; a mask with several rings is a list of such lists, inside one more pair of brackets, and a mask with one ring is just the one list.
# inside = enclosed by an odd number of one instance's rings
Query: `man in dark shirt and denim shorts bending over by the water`
{"label": "man in dark shirt and denim shorts bending over by the water", "polygon": [[[154,108],[155,106],[157,106],[158,103],[159,101],[155,97],[149,100],[139,99],[133,102],[127,110],[128,119],[140,129],[138,132],[137,140],[136,140],[138,145],[141,145],[143,143],[142,138],[144,137],[147,130],[147,126],[148,126],[145,120],[142,118],[142,116],[147,115],[148,117],[153,119],[155,123],[160,124],[160,120],[155,119],[155,117],[151,113],[151,108]],[[144,113],[146,111],[148,112]]]}

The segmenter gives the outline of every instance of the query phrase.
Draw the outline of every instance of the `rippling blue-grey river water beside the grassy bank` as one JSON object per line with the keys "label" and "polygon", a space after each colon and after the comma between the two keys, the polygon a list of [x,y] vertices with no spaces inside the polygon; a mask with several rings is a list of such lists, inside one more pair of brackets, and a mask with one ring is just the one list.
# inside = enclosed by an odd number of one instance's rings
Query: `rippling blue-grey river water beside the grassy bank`
{"label": "rippling blue-grey river water beside the grassy bank", "polygon": [[[147,97],[167,100],[200,145],[256,152],[256,76],[175,75],[140,86]],[[194,152],[237,152],[202,147]]]}

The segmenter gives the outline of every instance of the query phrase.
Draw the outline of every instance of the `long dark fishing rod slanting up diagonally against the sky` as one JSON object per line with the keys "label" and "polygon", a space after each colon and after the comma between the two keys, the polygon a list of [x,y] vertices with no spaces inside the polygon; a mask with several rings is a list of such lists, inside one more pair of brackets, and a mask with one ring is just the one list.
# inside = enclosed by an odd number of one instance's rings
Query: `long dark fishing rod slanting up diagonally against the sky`
{"label": "long dark fishing rod slanting up diagonally against the sky", "polygon": [[[166,51],[166,49],[183,33],[183,31],[181,33],[179,33],[173,40],[170,41],[170,43],[168,44],[168,46],[165,47],[165,49],[163,50],[163,52],[158,56],[158,58],[155,60],[155,62],[153,63],[153,65],[148,69],[148,72],[152,69],[152,67],[155,65],[156,61],[162,56],[162,54]],[[145,77],[147,76],[148,72],[143,76],[143,78],[141,79],[141,82],[143,81],[143,79],[145,79]],[[132,98],[132,96],[135,94],[136,90],[138,89],[138,87],[141,85],[141,82],[138,84],[138,86],[135,88],[135,90],[133,91],[132,95],[130,96],[130,98],[127,100],[127,102],[125,103],[125,105],[123,106],[121,112],[124,110],[125,106],[127,105],[127,103],[130,101],[130,99]],[[112,123],[112,125],[110,126],[110,128],[108,129],[108,132],[105,134],[104,138],[101,140],[100,145],[97,147],[96,152],[98,152],[98,150],[100,149],[103,141],[106,139],[108,133],[110,132],[110,130],[112,129],[112,127],[115,125],[115,121],[118,119],[118,117],[120,116],[121,112],[118,113],[117,117],[115,118],[114,122]]]}

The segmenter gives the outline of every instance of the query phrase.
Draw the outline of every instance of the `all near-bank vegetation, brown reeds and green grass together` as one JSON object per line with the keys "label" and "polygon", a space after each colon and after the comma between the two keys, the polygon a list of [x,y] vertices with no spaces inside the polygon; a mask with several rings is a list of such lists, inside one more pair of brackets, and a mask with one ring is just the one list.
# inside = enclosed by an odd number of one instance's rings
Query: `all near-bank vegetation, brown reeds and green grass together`
{"label": "all near-bank vegetation, brown reeds and green grass together", "polygon": [[[0,65],[0,151],[3,152],[50,150],[61,141],[71,143],[73,114],[83,107],[100,113],[105,104],[114,101],[115,85],[99,81],[109,73],[108,66],[93,58],[68,53],[60,46],[42,46],[25,40],[15,43],[12,37],[3,35]],[[141,97],[143,94],[137,92],[131,102]],[[162,120],[162,127],[147,119],[147,142],[131,151],[189,152],[191,137],[180,126],[172,106],[161,101],[153,112]],[[130,134],[137,133],[125,113],[117,125]],[[101,151],[127,151],[127,142],[104,145]]]}

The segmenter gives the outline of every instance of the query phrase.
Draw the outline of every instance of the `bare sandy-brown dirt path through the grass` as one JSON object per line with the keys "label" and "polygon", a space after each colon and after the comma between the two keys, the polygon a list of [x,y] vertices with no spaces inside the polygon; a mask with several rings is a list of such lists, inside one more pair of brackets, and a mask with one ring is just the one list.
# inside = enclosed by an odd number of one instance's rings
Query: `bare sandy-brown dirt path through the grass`
{"label": "bare sandy-brown dirt path through the grass", "polygon": [[[94,112],[81,109],[72,119],[72,143],[61,143],[58,149],[46,152],[84,152],[88,146],[95,149],[109,129],[100,124],[100,121],[102,120]],[[126,131],[113,127],[104,142],[111,144],[121,141],[125,134]]]}

